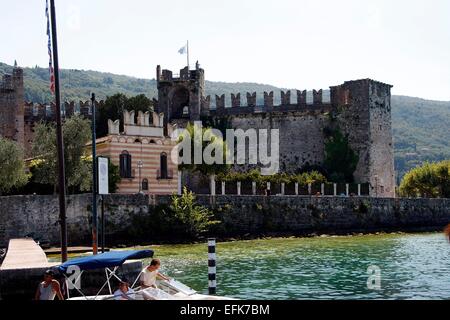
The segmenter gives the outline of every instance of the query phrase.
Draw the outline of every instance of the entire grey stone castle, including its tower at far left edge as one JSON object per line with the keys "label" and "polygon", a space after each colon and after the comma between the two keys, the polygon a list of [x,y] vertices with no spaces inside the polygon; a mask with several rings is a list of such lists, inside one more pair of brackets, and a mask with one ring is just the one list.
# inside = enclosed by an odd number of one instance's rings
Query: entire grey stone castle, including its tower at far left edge
{"label": "entire grey stone castle, including its tower at far left edge", "polygon": [[[279,129],[280,169],[295,173],[301,168],[321,165],[325,158],[325,131],[337,124],[348,137],[359,162],[354,173],[356,183],[369,183],[370,194],[395,196],[394,150],[391,127],[392,86],[370,79],[348,81],[330,87],[330,99],[323,90],[314,90],[308,99],[306,90],[281,91],[280,105],[274,92],[231,95],[205,94],[205,72],[196,64],[179,75],[157,66],[157,114],[164,114],[162,127],[189,121],[226,121],[234,129]],[[263,103],[258,103],[263,98]],[[245,103],[242,103],[245,100]],[[102,103],[100,101],[99,103]],[[90,103],[65,103],[63,116],[80,113],[90,117]],[[54,106],[24,102],[23,70],[15,65],[12,75],[4,75],[0,84],[0,135],[16,140],[27,151],[33,139],[33,127],[39,120],[54,119]],[[167,132],[165,133],[167,136]],[[245,166],[241,169],[246,170]]]}

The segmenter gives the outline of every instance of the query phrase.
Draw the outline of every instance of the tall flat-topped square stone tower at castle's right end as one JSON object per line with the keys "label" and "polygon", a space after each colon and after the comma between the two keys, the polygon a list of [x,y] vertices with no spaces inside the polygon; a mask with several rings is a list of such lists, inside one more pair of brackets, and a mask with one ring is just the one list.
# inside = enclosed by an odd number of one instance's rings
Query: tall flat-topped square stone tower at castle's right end
{"label": "tall flat-topped square stone tower at castle's right end", "polygon": [[371,196],[395,196],[391,85],[370,79],[331,87],[339,127],[359,154],[357,183],[369,182]]}

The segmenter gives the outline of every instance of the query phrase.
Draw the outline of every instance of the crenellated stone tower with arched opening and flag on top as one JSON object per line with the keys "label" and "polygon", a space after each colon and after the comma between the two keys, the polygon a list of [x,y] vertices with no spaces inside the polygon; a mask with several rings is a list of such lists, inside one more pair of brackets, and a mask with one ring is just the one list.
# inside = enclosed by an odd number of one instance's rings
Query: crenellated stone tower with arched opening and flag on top
{"label": "crenellated stone tower with arched opening and flag on top", "polygon": [[200,120],[202,103],[205,99],[205,72],[196,64],[194,70],[188,67],[175,75],[170,70],[156,69],[158,83],[157,112],[164,113],[167,123]]}

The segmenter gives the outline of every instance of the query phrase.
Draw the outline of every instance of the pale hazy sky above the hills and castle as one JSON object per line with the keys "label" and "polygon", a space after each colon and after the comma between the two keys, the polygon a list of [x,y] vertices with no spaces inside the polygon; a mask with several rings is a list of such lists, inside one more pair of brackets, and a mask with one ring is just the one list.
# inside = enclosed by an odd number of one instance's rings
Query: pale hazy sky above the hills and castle
{"label": "pale hazy sky above the hills and castle", "polygon": [[[55,0],[61,68],[320,89],[372,78],[450,101],[448,0]],[[48,65],[45,0],[0,0],[0,61]]]}

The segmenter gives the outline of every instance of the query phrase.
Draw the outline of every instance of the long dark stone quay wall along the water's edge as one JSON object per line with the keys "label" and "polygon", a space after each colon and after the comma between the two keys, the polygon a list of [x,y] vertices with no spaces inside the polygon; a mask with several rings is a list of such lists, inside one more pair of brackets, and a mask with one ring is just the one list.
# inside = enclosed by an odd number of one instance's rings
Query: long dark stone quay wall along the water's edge
{"label": "long dark stone quay wall along the water's edge", "polygon": [[[374,231],[442,230],[450,223],[450,199],[390,199],[315,196],[198,196],[222,223],[211,236],[268,234],[347,234]],[[109,239],[132,232],[133,223],[152,219],[170,196],[110,195],[105,197]],[[68,241],[88,245],[91,239],[91,196],[69,196]],[[99,208],[99,216],[100,216]],[[56,196],[0,197],[0,247],[8,240],[32,237],[48,245],[60,239]],[[136,218],[139,219],[136,219]],[[151,230],[149,239],[152,241]]]}

